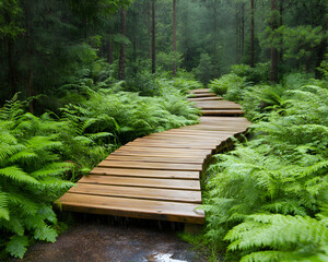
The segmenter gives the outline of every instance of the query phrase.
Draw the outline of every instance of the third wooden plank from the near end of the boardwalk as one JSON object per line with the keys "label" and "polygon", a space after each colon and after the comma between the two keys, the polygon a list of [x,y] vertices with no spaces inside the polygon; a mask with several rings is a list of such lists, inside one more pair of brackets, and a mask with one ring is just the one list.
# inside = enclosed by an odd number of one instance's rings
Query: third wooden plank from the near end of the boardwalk
{"label": "third wooden plank from the near end of the boardwalk", "polygon": [[97,183],[125,187],[142,187],[142,188],[165,188],[181,190],[200,190],[198,180],[184,179],[160,179],[160,178],[137,178],[137,177],[114,177],[114,176],[85,176],[80,179],[79,183]]}

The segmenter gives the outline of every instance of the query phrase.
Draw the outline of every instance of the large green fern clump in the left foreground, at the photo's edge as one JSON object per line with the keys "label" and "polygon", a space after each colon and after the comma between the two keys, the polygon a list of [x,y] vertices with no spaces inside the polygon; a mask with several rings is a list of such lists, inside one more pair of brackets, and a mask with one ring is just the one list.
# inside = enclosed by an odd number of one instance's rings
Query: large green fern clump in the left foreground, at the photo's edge
{"label": "large green fern clump in the left foreground, at the photo's edge", "polygon": [[15,96],[0,110],[1,245],[19,258],[31,237],[55,241],[57,219],[51,202],[72,186],[60,178],[72,168],[60,162],[58,152],[63,144],[55,134],[43,133],[48,122],[22,108]]}

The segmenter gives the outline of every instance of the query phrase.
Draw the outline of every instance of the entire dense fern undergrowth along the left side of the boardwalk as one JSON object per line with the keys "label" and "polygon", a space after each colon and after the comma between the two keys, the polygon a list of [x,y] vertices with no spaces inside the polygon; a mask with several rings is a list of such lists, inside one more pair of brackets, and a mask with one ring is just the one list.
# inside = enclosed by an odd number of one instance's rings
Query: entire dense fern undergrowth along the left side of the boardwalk
{"label": "entire dense fern undergrowth along the left side of the boardwalk", "polygon": [[47,98],[62,105],[56,110],[35,116],[19,95],[0,109],[0,260],[22,258],[34,240],[54,242],[52,202],[115,148],[198,121],[186,94],[201,84],[165,75],[149,82],[141,96],[113,79],[77,78]]}

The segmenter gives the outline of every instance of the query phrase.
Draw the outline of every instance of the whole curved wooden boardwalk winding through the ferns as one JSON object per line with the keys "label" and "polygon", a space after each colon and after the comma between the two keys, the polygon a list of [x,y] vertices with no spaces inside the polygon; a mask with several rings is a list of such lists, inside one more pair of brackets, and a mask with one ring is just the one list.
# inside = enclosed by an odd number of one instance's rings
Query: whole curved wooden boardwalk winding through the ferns
{"label": "whole curved wooden boardwalk winding through the ferns", "polygon": [[203,224],[204,214],[195,210],[201,204],[203,163],[249,122],[236,117],[244,114],[238,104],[221,100],[207,88],[190,93],[202,111],[199,124],[121,146],[59,199],[62,209]]}

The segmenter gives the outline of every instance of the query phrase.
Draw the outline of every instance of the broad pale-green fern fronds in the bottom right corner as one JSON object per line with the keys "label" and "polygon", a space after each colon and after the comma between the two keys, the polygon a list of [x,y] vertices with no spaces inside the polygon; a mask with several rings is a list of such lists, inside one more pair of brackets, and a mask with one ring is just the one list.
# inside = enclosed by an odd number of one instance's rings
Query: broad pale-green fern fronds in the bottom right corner
{"label": "broad pale-green fern fronds in the bottom right corner", "polygon": [[[306,257],[328,259],[328,229],[311,217],[250,215],[246,222],[231,229],[225,239],[232,241],[229,250],[250,252],[242,261],[290,261],[297,257],[303,260]],[[256,251],[263,248],[273,252]]]}

